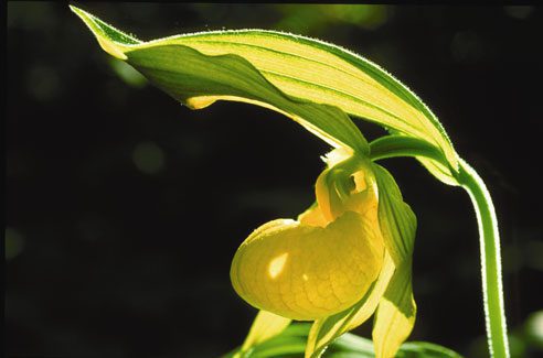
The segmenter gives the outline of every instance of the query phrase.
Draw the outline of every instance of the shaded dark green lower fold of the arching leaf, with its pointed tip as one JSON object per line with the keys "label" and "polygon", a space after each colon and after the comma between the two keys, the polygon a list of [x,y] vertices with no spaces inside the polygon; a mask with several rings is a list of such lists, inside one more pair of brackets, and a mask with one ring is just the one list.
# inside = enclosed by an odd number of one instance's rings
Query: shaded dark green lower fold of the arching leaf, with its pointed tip
{"label": "shaded dark green lower fold of the arching leaf, with its pointed tip", "polygon": [[221,99],[258,105],[290,117],[334,148],[369,153],[368,142],[342,110],[286,95],[237,54],[206,55],[177,42],[134,44],[136,40],[89,13],[73,10],[105,51],[125,59],[157,87],[193,109]]}

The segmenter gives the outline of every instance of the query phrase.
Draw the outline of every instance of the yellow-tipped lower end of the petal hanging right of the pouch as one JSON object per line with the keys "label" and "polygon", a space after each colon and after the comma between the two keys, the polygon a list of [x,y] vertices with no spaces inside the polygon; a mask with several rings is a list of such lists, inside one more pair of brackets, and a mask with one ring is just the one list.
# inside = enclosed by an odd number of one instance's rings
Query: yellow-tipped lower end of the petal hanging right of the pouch
{"label": "yellow-tipped lower end of the petal hanging right of the pouch", "polygon": [[416,304],[411,284],[411,262],[397,268],[381,300],[373,323],[376,358],[392,358],[415,325]]}

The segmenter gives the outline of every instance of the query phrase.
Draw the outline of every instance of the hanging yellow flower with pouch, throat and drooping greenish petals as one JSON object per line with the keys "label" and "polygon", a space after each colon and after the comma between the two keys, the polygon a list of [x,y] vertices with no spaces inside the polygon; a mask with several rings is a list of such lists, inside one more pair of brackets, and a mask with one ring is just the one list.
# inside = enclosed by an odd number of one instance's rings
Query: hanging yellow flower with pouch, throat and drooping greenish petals
{"label": "hanging yellow flower with pouch, throat and drooping greenish petals", "polygon": [[234,290],[262,311],[315,321],[308,357],[376,311],[375,351],[392,357],[415,317],[412,245],[397,240],[409,231],[412,241],[414,216],[384,169],[344,149],[332,151],[327,163],[312,207],[297,220],[260,226],[239,246],[231,268]]}

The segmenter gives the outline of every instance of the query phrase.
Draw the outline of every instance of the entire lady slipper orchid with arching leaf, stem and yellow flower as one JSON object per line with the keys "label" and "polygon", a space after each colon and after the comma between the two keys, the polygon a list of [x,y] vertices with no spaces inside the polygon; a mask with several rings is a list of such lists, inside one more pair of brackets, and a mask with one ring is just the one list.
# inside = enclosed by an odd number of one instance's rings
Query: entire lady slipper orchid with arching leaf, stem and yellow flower
{"label": "entire lady slipper orchid with arching leaf, stem and yellow flower", "polygon": [[[318,358],[372,315],[374,349],[363,351],[388,358],[405,348],[400,346],[416,315],[411,269],[416,218],[393,176],[374,163],[394,156],[416,158],[436,178],[470,195],[480,232],[489,352],[509,357],[492,199],[437,117],[400,80],[345,48],[300,35],[252,29],[145,42],[71,9],[104,51],[185,106],[202,109],[216,100],[257,105],[334,148],[317,180],[316,204],[296,220],[257,228],[234,256],[234,290],[260,310],[235,357],[266,349],[266,344],[273,352],[255,357],[299,355],[299,345],[280,340],[291,319],[298,319],[313,322],[301,349],[306,358]],[[368,143],[351,117],[381,124],[391,135]],[[457,357],[436,345],[411,347],[416,357],[426,357],[427,349]]]}

